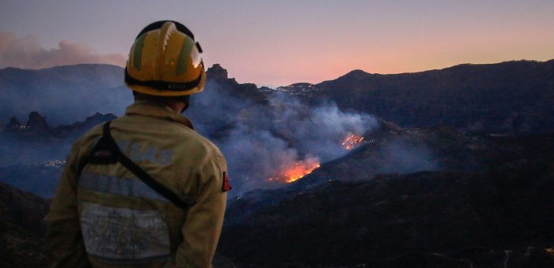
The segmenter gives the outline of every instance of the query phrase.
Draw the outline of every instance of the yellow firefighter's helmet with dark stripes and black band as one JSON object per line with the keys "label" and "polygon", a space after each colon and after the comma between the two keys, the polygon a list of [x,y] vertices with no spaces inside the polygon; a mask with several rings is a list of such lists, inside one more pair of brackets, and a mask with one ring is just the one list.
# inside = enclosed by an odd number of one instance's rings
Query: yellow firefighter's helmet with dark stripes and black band
{"label": "yellow firefighter's helmet with dark stripes and black band", "polygon": [[125,66],[125,84],[157,96],[199,93],[206,84],[202,49],[183,24],[154,22],[134,40]]}

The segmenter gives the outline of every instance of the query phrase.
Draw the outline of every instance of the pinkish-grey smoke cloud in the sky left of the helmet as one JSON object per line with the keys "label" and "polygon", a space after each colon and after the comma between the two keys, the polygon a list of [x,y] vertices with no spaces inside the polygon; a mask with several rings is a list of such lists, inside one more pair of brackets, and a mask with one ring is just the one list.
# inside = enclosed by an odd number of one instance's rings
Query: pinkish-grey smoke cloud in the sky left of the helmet
{"label": "pinkish-grey smoke cloud in the sky left of the helmet", "polygon": [[123,54],[94,54],[86,45],[61,40],[59,47],[45,49],[36,36],[17,37],[12,32],[0,32],[0,68],[49,68],[79,63],[125,65]]}

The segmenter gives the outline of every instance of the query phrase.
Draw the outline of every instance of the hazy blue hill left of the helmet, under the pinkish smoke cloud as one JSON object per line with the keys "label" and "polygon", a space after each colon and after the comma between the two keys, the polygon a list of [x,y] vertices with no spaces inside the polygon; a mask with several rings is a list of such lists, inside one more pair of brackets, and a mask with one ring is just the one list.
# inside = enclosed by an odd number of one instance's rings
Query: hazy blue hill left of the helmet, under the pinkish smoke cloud
{"label": "hazy blue hill left of the helmet, under the pinkish smoke cloud", "polygon": [[82,64],[41,70],[0,70],[0,123],[38,111],[51,125],[74,123],[100,113],[123,114],[132,102],[123,68]]}

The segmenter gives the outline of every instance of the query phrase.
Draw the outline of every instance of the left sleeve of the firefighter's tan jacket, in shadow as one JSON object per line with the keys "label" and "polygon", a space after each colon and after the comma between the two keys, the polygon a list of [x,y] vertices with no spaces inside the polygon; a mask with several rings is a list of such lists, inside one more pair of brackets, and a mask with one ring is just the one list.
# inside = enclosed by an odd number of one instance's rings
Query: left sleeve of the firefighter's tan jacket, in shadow
{"label": "left sleeve of the firefighter's tan jacket, in shadow", "polygon": [[90,267],[77,210],[77,155],[75,143],[63,168],[47,215],[47,251],[52,267]]}

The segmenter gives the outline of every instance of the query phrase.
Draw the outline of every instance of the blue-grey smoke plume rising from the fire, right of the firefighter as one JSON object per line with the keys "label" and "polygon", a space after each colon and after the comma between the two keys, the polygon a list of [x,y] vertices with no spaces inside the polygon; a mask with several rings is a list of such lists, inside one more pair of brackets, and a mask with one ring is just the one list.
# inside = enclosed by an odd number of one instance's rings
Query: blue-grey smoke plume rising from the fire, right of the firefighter
{"label": "blue-grey smoke plume rising from the fire, right of the firefighter", "polygon": [[233,194],[278,187],[268,178],[298,164],[329,161],[345,155],[341,142],[377,126],[363,113],[346,113],[333,102],[316,107],[285,93],[272,93],[267,103],[239,99],[215,83],[192,97],[189,116],[197,131],[222,150],[229,166]]}

